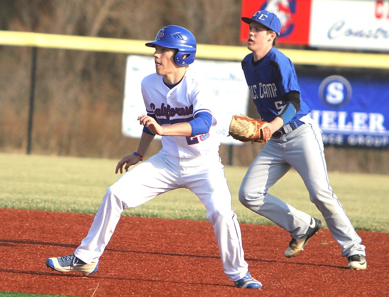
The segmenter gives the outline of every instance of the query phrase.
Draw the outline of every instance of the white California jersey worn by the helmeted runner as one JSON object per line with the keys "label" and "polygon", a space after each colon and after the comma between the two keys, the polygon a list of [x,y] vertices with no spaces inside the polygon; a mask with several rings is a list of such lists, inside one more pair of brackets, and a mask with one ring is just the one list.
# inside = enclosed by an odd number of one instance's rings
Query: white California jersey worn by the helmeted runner
{"label": "white California jersey worn by the helmeted runner", "polygon": [[[194,71],[187,69],[182,81],[169,89],[162,76],[153,73],[146,76],[142,83],[142,95],[147,113],[155,115],[159,125],[189,122],[198,112],[211,112],[210,92],[200,91]],[[162,136],[161,153],[179,158],[193,158],[206,153],[217,152],[220,146],[216,133],[216,119],[212,115],[209,133],[195,136]]]}

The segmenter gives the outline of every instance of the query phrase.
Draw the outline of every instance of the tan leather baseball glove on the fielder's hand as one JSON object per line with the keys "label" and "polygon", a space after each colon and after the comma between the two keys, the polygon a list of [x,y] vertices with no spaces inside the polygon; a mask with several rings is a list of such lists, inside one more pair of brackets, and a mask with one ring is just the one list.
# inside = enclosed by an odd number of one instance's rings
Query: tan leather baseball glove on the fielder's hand
{"label": "tan leather baseball glove on the fielder's hand", "polygon": [[243,142],[266,142],[271,137],[268,122],[246,115],[232,115],[229,134]]}

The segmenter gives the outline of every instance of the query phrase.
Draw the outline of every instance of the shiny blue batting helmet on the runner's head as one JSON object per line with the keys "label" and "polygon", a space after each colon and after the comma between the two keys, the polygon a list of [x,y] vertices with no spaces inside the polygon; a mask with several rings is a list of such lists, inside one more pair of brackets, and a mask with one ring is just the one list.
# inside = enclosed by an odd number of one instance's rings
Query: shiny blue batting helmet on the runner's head
{"label": "shiny blue batting helmet on the runner's head", "polygon": [[[195,36],[183,27],[175,25],[163,27],[157,33],[155,41],[146,43],[146,46],[151,48],[155,48],[156,45],[169,49],[177,49],[174,60],[180,66],[186,66],[195,61]],[[187,55],[187,57],[184,59],[182,57],[183,55]]]}

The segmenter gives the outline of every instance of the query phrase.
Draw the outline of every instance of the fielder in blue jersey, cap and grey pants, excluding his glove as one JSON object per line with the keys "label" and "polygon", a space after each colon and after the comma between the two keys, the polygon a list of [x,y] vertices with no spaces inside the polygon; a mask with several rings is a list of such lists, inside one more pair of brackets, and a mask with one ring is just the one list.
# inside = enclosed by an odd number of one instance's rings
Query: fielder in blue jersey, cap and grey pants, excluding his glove
{"label": "fielder in blue jersey, cap and grey pants, excluding his glove", "polygon": [[321,221],[268,193],[269,188],[294,168],[323,215],[329,230],[347,257],[350,269],[366,269],[365,247],[332,190],[324,158],[321,131],[302,100],[293,63],[274,46],[281,30],[279,18],[269,11],[242,17],[248,24],[247,47],[242,60],[248,88],[272,137],[254,159],[242,181],[239,200],[273,221],[292,239],[285,257],[294,257],[321,227]]}

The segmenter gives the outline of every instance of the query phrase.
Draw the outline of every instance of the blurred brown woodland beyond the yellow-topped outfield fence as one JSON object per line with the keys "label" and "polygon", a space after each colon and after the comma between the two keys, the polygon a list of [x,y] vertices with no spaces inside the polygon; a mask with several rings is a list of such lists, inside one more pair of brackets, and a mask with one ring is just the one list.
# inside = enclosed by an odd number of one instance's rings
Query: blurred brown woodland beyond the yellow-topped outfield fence
{"label": "blurred brown woodland beyond the yellow-topped outfield fence", "polygon": [[[160,28],[175,24],[191,30],[197,43],[239,45],[240,11],[240,0],[0,0],[0,30],[153,40]],[[31,53],[0,46],[0,151],[26,148]],[[33,153],[118,158],[137,147],[121,133],[125,59],[37,50]],[[150,153],[159,148],[155,142]],[[247,164],[258,149],[236,148],[241,153],[234,164]],[[222,147],[222,158],[227,153]],[[388,163],[388,151],[358,153],[381,167]],[[388,172],[381,167],[377,172]]]}

